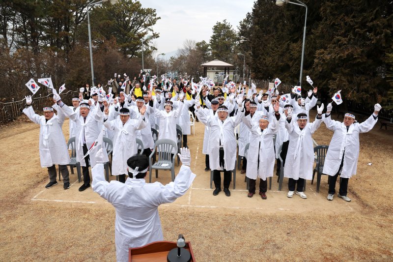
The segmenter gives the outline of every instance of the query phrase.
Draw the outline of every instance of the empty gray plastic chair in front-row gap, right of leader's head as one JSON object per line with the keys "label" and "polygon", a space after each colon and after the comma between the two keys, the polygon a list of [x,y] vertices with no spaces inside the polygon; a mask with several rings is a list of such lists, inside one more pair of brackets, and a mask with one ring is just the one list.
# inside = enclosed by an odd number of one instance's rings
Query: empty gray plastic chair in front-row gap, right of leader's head
{"label": "empty gray plastic chair in front-row gap, right of leader's head", "polygon": [[[158,152],[157,162],[152,163],[154,154]],[[172,156],[172,151],[175,153]],[[175,156],[177,152],[176,142],[170,139],[159,139],[154,143],[153,151],[149,156],[149,183],[151,183],[151,172],[156,170],[156,178],[158,177],[158,170],[170,170],[172,181],[175,180]]]}

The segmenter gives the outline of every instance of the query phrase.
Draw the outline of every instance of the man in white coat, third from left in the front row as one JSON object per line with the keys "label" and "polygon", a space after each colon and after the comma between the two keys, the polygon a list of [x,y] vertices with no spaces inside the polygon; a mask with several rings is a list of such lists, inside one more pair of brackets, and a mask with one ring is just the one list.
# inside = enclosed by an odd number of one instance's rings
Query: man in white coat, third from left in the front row
{"label": "man in white coat, third from left in the front row", "polygon": [[120,109],[120,116],[112,121],[108,121],[109,109],[104,110],[104,125],[113,130],[113,153],[112,153],[112,175],[118,175],[119,181],[124,183],[127,174],[127,160],[138,152],[135,140],[136,130],[146,126],[144,121],[146,107],[140,109],[137,119],[130,118],[128,108]]}

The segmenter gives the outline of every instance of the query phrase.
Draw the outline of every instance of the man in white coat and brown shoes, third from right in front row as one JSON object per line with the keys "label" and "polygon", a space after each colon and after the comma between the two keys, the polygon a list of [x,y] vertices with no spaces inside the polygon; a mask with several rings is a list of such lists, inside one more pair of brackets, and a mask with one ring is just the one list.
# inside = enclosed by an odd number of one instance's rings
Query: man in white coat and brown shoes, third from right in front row
{"label": "man in white coat and brown shoes, third from right in front row", "polygon": [[[250,105],[251,106],[251,105]],[[256,106],[256,104],[255,104]],[[247,110],[248,105],[246,105]],[[259,177],[259,195],[262,199],[267,199],[267,177],[273,176],[275,164],[275,152],[273,144],[273,135],[277,134],[279,129],[280,105],[274,106],[274,117],[271,117],[271,123],[268,116],[260,116],[258,123],[252,119],[250,111],[246,111],[243,122],[250,128],[251,137],[249,150],[247,152],[247,172],[249,178],[248,197],[252,198],[255,194],[256,178]],[[250,107],[251,110],[251,107]],[[254,116],[255,117],[255,116]]]}

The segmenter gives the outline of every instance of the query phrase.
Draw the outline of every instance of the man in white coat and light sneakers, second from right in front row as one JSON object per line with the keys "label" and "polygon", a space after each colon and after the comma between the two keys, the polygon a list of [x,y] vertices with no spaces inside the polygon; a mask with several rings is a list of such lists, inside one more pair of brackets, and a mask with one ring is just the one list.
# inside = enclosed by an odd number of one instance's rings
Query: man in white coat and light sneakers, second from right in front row
{"label": "man in white coat and light sneakers, second from right in front row", "polygon": [[[293,193],[306,199],[307,196],[303,192],[305,179],[312,179],[312,170],[314,163],[314,147],[312,146],[311,135],[318,129],[322,123],[321,107],[317,107],[318,115],[315,121],[307,123],[307,115],[300,113],[297,115],[297,122],[292,123],[292,109],[288,109],[288,116],[285,121],[285,128],[288,130],[289,145],[286,154],[284,177],[288,177],[289,192],[288,198],[293,197]],[[297,190],[295,185],[297,183]]]}

